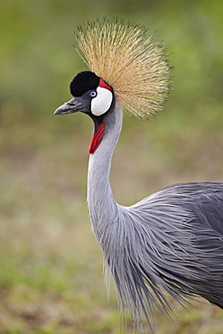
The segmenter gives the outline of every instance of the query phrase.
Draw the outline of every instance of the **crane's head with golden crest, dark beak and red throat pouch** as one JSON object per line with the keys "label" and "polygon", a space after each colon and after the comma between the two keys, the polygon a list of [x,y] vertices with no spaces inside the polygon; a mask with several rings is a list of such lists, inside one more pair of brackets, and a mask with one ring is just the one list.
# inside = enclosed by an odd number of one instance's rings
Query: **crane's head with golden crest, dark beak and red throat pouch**
{"label": "crane's head with golden crest, dark beak and red throat pouch", "polygon": [[[80,72],[72,80],[73,98],[54,114],[81,111],[91,116],[97,147],[104,134],[102,119],[115,99],[130,114],[148,119],[162,110],[169,96],[166,52],[146,31],[141,24],[106,18],[78,28],[76,50],[90,71]],[[90,146],[89,152],[96,148]]]}

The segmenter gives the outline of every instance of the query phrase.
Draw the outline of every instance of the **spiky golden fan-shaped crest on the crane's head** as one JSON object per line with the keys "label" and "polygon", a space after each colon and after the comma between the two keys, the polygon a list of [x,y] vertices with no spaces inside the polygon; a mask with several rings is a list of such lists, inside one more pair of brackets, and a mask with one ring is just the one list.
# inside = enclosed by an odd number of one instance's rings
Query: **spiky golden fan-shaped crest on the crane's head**
{"label": "spiky golden fan-shaped crest on the crane's head", "polygon": [[170,91],[166,51],[144,25],[103,18],[78,27],[76,50],[88,69],[114,90],[124,109],[148,118],[162,110]]}

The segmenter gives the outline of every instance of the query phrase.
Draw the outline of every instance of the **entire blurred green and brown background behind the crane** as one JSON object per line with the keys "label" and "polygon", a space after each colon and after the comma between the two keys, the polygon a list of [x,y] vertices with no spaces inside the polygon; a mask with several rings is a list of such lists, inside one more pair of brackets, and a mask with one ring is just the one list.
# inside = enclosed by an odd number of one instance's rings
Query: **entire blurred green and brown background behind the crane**
{"label": "entire blurred green and brown background behind the crane", "polygon": [[[1,0],[0,333],[120,332],[86,208],[91,121],[53,116],[86,70],[73,31],[114,15],[156,32],[174,66],[165,111],[147,123],[125,116],[117,202],[173,182],[223,181],[222,0]],[[157,333],[222,333],[222,311],[194,304],[174,305],[176,327],[157,312]]]}

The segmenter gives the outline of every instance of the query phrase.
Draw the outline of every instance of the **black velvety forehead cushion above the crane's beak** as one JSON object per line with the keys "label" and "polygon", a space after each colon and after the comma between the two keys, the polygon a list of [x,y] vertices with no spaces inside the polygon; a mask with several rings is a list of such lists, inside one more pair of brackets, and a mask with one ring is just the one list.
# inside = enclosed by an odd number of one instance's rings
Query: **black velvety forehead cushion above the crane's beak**
{"label": "black velvety forehead cushion above the crane's beak", "polygon": [[93,72],[79,72],[70,82],[70,93],[73,97],[81,97],[90,89],[97,89],[100,78]]}

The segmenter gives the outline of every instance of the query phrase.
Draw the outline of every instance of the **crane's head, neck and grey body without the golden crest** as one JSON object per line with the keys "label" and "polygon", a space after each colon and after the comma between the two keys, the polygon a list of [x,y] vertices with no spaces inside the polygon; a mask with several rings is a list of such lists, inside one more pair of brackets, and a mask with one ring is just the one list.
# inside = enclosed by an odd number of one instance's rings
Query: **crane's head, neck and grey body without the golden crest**
{"label": "crane's head, neck and grey body without the golden crest", "polygon": [[79,73],[70,91],[74,98],[55,113],[82,111],[94,122],[88,209],[121,310],[136,326],[144,317],[150,322],[153,306],[172,311],[164,292],[178,302],[200,295],[223,308],[223,183],[174,184],[133,206],[118,205],[109,173],[122,107],[109,82],[92,72]]}

